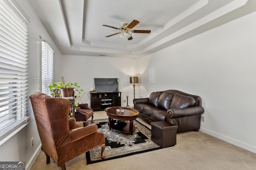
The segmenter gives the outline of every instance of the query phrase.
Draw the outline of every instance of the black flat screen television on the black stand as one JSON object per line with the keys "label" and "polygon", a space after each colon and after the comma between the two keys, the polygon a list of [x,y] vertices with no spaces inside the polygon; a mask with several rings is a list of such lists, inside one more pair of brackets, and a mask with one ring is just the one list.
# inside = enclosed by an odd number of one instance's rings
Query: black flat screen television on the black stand
{"label": "black flat screen television on the black stand", "polygon": [[94,78],[96,92],[119,92],[118,78]]}

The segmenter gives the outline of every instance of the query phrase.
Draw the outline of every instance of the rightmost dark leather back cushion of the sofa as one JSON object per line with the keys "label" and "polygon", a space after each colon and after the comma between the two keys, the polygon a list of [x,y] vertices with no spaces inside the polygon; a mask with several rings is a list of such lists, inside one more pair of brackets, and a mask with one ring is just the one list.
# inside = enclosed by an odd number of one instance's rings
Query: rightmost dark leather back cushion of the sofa
{"label": "rightmost dark leather back cushion of the sofa", "polygon": [[188,106],[194,106],[195,104],[196,100],[194,98],[175,93],[172,98],[170,109],[184,108]]}

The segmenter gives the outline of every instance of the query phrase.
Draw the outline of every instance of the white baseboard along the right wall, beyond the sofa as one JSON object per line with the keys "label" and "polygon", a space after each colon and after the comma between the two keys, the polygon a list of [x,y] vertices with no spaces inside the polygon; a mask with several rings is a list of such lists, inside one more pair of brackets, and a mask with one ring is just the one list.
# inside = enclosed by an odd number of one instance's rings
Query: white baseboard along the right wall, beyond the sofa
{"label": "white baseboard along the right wall, beyond the sofa", "polygon": [[232,145],[236,145],[237,147],[240,147],[242,149],[246,149],[246,150],[249,150],[250,152],[254,152],[256,153],[256,147],[254,146],[251,146],[251,145],[248,145],[246,143],[242,143],[240,141],[237,141],[235,139],[232,139],[232,138],[229,138],[229,137],[226,137],[224,135],[220,135],[216,132],[213,132],[213,131],[209,131],[208,129],[204,129],[202,127],[200,127],[199,131],[203,132],[203,133],[206,133],[208,135],[211,135],[213,137],[216,137],[218,139],[221,139],[222,141],[226,141]]}

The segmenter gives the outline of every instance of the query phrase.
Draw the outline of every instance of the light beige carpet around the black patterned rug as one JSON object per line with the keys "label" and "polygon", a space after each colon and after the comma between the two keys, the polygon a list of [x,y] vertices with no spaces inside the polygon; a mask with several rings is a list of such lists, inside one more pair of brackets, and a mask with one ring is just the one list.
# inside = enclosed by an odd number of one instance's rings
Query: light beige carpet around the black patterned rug
{"label": "light beige carpet around the black patterned rug", "polygon": [[[94,119],[108,118],[104,111],[94,112]],[[148,123],[138,118],[138,121]],[[142,154],[86,165],[85,153],[66,162],[67,170],[256,170],[256,154],[202,132],[177,134],[177,145]],[[31,170],[60,170],[51,159],[46,164],[40,152]]]}

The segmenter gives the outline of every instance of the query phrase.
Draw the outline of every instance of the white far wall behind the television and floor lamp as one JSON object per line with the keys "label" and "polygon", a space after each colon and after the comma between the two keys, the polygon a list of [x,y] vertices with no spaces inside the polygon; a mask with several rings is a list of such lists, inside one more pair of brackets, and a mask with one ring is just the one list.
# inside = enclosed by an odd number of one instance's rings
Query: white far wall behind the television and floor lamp
{"label": "white far wall behind the television and floor lamp", "polygon": [[[65,83],[77,82],[80,88],[86,92],[82,101],[78,99],[77,102],[90,104],[88,96],[90,96],[91,88],[94,88],[94,78],[119,78],[122,101],[129,96],[128,104],[133,106],[133,86],[130,84],[130,76],[137,75],[137,59],[63,55],[62,64],[62,76],[64,76]],[[71,67],[68,67],[70,65]],[[54,81],[61,81],[61,78]],[[138,97],[138,90],[135,89],[136,97]],[[127,103],[123,102],[122,105],[126,106]]]}

